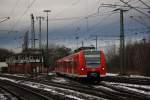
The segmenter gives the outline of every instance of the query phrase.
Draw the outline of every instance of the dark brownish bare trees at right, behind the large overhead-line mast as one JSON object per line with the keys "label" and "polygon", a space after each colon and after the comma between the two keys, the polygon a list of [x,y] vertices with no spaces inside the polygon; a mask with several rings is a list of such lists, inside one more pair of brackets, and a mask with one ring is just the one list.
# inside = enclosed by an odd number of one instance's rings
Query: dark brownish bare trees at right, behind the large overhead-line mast
{"label": "dark brownish bare trees at right, behind the large overhead-line mast", "polygon": [[[150,42],[127,44],[125,47],[126,74],[141,74],[150,76]],[[108,71],[120,72],[119,52],[114,48],[108,52]]]}

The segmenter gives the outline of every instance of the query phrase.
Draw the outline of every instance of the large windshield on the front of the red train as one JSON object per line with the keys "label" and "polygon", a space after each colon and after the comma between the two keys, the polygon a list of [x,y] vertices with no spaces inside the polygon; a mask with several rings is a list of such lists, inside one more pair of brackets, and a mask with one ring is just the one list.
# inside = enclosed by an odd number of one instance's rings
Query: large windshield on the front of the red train
{"label": "large windshield on the front of the red train", "polygon": [[85,51],[86,66],[96,68],[100,65],[100,51]]}

